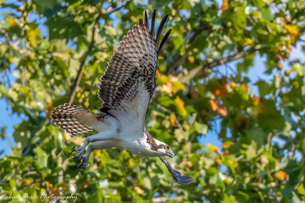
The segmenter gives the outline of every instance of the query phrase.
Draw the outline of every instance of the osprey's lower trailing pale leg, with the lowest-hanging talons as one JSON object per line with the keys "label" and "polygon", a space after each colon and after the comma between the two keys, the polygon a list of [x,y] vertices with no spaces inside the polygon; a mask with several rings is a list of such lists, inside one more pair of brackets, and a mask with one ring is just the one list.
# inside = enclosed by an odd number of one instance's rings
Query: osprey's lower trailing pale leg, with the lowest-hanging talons
{"label": "osprey's lower trailing pale leg, with the lowest-hanging talons", "polygon": [[84,170],[85,167],[88,165],[88,160],[90,157],[90,154],[95,149],[109,149],[113,147],[117,147],[117,143],[113,142],[112,140],[107,141],[97,141],[93,142],[91,145],[88,146],[86,156],[82,157],[82,162],[77,164],[77,167],[79,170]]}

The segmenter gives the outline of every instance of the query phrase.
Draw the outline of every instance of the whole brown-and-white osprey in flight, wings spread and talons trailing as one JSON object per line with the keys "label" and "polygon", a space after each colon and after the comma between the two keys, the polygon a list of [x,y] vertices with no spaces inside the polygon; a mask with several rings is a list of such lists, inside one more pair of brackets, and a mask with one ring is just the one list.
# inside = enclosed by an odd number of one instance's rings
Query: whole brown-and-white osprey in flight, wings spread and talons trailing
{"label": "whole brown-and-white osprey in flight, wings spread and talons trailing", "polygon": [[[93,130],[98,134],[88,136],[81,147],[73,147],[74,158],[82,160],[77,165],[84,170],[91,152],[95,149],[123,147],[137,156],[159,157],[179,184],[189,184],[193,177],[181,176],[170,166],[164,156],[174,157],[170,147],[156,140],[145,129],[149,102],[156,85],[156,68],[160,51],[170,34],[169,30],[159,39],[168,14],[161,20],[156,38],[154,33],[156,9],[152,13],[149,29],[145,10],[144,23],[123,37],[104,75],[100,78],[98,96],[102,100],[101,113],[92,113],[72,103],[55,108],[52,121],[70,135],[80,135]],[[86,156],[84,150],[88,146]]]}

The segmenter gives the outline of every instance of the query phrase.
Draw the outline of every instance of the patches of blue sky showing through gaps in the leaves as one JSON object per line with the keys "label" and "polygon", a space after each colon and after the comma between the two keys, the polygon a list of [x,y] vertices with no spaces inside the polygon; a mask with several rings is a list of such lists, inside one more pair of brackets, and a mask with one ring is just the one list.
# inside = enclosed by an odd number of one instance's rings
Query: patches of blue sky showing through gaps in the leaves
{"label": "patches of blue sky showing through gaps in the leaves", "polygon": [[[9,2],[16,2],[16,1],[9,0]],[[206,2],[208,3],[209,1],[206,0]],[[218,0],[217,2],[221,6],[222,1]],[[0,21],[3,19],[1,17],[3,12],[15,12],[15,11],[10,8],[0,9]],[[187,13],[185,13],[185,15],[187,15]],[[111,17],[111,19],[113,19],[113,25],[116,26],[117,21],[119,19],[114,14],[112,14],[110,17]],[[48,37],[48,28],[43,24],[46,21],[45,17],[40,18],[37,14],[33,13],[33,14],[29,15],[29,20],[30,20],[30,22],[36,20],[36,22],[39,24],[38,27],[41,29],[41,34],[44,37]],[[303,35],[301,38],[303,40],[305,40],[305,35]],[[4,40],[5,40],[4,38],[0,37],[0,41],[3,42]],[[71,42],[68,42],[68,43],[71,43]],[[290,53],[290,58],[289,58],[290,60],[295,60],[295,59],[299,59],[299,60],[301,59],[301,61],[305,60],[305,54],[301,47],[302,44],[304,45],[305,43],[299,42],[296,44],[296,47],[292,47],[292,51]],[[238,62],[240,62],[242,60],[243,59],[231,61],[228,63],[228,65],[231,66],[231,68],[234,70],[234,72],[236,72],[236,65]],[[249,85],[255,96],[259,96],[258,88],[255,85],[255,83],[260,79],[265,80],[266,82],[272,82],[274,73],[278,72],[278,70],[276,68],[274,68],[274,70],[272,71],[271,74],[266,74],[265,73],[266,67],[264,65],[265,60],[266,60],[265,56],[260,56],[258,53],[256,53],[255,57],[253,59],[253,66],[250,67],[248,72],[245,74],[245,77],[248,77],[250,80]],[[283,64],[284,68],[282,71],[280,71],[280,75],[284,75],[285,70],[289,69],[288,60],[282,61],[281,63]],[[10,70],[13,71],[13,69],[14,69],[14,67],[11,66]],[[217,77],[221,77],[221,75],[226,75],[225,69],[226,69],[225,65],[219,65],[219,66],[216,66],[213,68],[213,70],[217,70],[219,72],[219,75],[217,75]],[[232,72],[230,69],[228,69],[227,76],[235,75],[234,72]],[[9,77],[10,83],[13,84],[14,76],[12,74],[9,74],[8,77]],[[293,77],[293,74],[291,75],[291,77]],[[0,81],[1,80],[2,79],[0,79]],[[27,117],[24,114],[17,115],[16,113],[12,113],[12,109],[11,109],[10,105],[6,102],[6,100],[4,98],[0,98],[0,112],[2,112],[2,114],[0,115],[0,125],[1,126],[4,125],[6,127],[6,129],[5,129],[6,135],[11,135],[14,132],[14,128],[13,128],[14,125],[21,123],[23,121],[23,119],[27,119]],[[202,144],[211,143],[212,145],[222,148],[221,147],[222,142],[218,138],[220,129],[221,129],[221,119],[217,119],[216,121],[213,121],[213,130],[209,130],[207,135],[200,136],[198,138],[198,141]],[[273,138],[273,142],[281,143],[282,141],[279,138]],[[9,146],[15,145],[15,144],[16,143],[14,142],[14,139],[12,136],[9,136],[9,140],[0,138],[0,152],[2,150],[4,150],[5,154],[10,154],[11,149]],[[223,170],[226,170],[226,169],[223,168]]]}

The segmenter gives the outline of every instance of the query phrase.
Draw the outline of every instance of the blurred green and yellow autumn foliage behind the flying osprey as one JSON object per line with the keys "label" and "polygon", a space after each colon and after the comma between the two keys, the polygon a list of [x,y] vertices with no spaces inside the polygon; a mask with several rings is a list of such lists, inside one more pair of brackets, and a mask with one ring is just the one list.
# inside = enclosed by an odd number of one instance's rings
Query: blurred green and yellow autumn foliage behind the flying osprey
{"label": "blurred green and yellow autumn foliage behind the flying osprey", "polygon": [[[74,193],[77,202],[305,201],[305,68],[289,56],[305,30],[304,0],[0,4],[6,9],[0,96],[28,117],[15,126],[12,154],[0,159],[0,193]],[[151,14],[153,8],[157,22],[169,13],[165,30],[172,31],[159,57],[146,126],[175,152],[168,159],[173,168],[196,178],[189,185],[178,185],[159,159],[121,148],[94,151],[80,172],[70,151],[88,135],[71,137],[49,120],[67,101],[98,112],[97,86],[109,58],[144,9]],[[272,73],[270,82],[254,84],[259,95],[246,75],[255,55],[265,57]],[[219,73],[229,65],[213,68],[239,58],[233,74]],[[217,120],[222,146],[200,144]],[[10,137],[5,127],[1,137]]]}

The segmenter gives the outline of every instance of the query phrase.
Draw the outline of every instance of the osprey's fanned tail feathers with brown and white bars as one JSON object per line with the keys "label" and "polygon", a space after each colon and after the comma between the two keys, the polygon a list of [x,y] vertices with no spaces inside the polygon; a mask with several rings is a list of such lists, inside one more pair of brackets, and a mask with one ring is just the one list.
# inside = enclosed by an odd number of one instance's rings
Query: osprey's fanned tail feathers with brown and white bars
{"label": "osprey's fanned tail feathers with brown and white bars", "polygon": [[70,133],[70,135],[81,135],[94,130],[92,127],[79,122],[77,118],[77,114],[78,116],[79,114],[87,114],[92,117],[94,113],[84,110],[73,103],[65,103],[58,108],[54,108],[54,110],[51,112],[51,121],[55,125],[59,125],[59,128],[65,129],[65,132]]}

